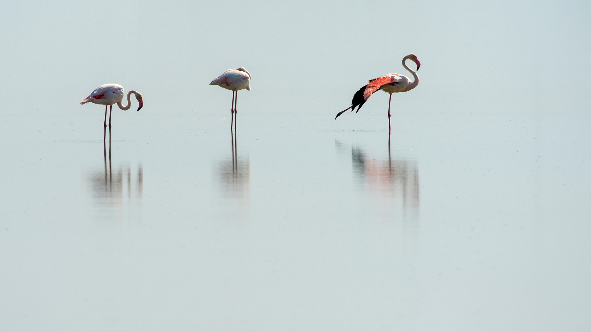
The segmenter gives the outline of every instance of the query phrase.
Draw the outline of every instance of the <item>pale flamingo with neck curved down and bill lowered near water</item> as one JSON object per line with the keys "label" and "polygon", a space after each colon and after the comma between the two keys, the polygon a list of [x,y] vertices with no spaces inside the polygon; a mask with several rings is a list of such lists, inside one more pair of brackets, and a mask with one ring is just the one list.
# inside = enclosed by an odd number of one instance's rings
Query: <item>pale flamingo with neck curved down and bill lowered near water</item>
{"label": "pale flamingo with neck curved down and bill lowered near water", "polygon": [[[111,106],[111,110],[109,111],[109,133],[111,132],[111,113],[113,112],[113,104],[117,104],[120,109],[128,110],[131,108],[131,102],[129,101],[129,95],[135,95],[135,99],[138,100],[139,107],[138,110],[144,106],[144,97],[141,93],[130,90],[127,93],[127,106],[123,106],[121,101],[123,100],[123,96],[125,92],[123,87],[119,84],[103,84],[102,86],[97,87],[88,97],[82,99],[80,105],[84,105],[85,103],[95,103],[100,105],[105,105],[105,129],[107,127],[107,106]],[[111,135],[111,134],[109,134]]]}

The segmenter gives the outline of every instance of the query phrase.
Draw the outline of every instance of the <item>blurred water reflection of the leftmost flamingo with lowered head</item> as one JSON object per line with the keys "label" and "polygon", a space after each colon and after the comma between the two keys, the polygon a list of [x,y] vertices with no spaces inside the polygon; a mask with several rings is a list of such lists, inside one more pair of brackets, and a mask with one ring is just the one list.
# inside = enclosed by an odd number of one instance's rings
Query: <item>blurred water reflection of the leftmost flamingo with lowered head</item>
{"label": "blurred water reflection of the leftmost flamingo with lowered head", "polygon": [[144,171],[141,165],[132,174],[129,164],[113,168],[111,160],[111,142],[107,154],[103,142],[103,165],[86,173],[89,191],[99,209],[122,210],[132,203],[141,202],[144,187]]}

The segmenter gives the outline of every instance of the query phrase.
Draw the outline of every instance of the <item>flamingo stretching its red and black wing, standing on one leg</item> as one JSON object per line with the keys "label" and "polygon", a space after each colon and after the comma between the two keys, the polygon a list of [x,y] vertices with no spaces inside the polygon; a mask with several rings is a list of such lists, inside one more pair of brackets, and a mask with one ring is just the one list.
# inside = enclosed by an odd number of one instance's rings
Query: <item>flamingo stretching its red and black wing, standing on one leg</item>
{"label": "flamingo stretching its red and black wing, standing on one leg", "polygon": [[[406,70],[410,71],[410,73],[414,76],[413,82],[410,82],[408,77],[395,73],[385,74],[384,76],[378,77],[373,80],[369,80],[369,84],[363,86],[361,89],[358,90],[358,92],[355,93],[355,96],[353,96],[353,100],[351,100],[351,106],[346,110],[350,109],[351,112],[353,112],[355,107],[359,105],[355,113],[359,112],[361,106],[363,106],[363,104],[369,99],[369,97],[371,97],[372,93],[376,92],[377,90],[384,90],[385,92],[390,94],[390,100],[388,102],[388,129],[391,130],[392,126],[390,124],[390,105],[392,103],[392,93],[407,92],[408,90],[414,89],[418,85],[418,75],[416,71],[408,68],[408,66],[405,63],[408,59],[413,60],[414,63],[417,64],[417,70],[419,67],[421,67],[421,61],[418,61],[417,56],[415,56],[413,53],[408,54],[408,56],[405,56],[402,59],[402,66]],[[345,113],[346,110],[339,112],[335,116],[335,119],[338,118],[339,115]]]}

